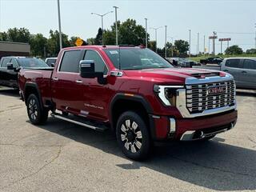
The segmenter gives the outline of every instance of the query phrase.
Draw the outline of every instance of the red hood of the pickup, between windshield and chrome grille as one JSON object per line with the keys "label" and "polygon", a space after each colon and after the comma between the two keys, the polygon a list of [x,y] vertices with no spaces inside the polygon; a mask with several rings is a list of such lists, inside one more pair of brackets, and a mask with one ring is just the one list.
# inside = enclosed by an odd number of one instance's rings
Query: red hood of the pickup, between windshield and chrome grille
{"label": "red hood of the pickup, between windshield and chrome grille", "polygon": [[171,82],[184,84],[186,78],[205,78],[210,76],[225,76],[218,70],[204,70],[194,68],[158,68],[146,70],[125,70],[125,74],[131,78],[143,78],[154,82]]}

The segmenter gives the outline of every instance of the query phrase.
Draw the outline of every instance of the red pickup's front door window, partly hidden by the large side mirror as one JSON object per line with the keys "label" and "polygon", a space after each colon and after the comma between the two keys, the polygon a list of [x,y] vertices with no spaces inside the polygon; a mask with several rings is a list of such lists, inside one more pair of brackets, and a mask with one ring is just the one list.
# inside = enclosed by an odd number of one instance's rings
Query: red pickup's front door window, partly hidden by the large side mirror
{"label": "red pickup's front door window, partly hidden by the large side mirror", "polygon": [[107,68],[105,62],[103,62],[101,56],[94,50],[86,50],[86,55],[84,60],[94,60],[95,71],[103,72],[103,74],[107,74]]}

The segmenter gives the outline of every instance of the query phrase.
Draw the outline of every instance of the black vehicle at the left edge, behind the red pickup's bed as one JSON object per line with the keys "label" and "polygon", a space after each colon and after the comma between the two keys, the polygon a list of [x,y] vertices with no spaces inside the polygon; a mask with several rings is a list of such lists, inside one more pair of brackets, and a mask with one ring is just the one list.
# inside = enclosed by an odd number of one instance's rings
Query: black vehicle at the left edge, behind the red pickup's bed
{"label": "black vehicle at the left edge, behind the red pickup's bed", "polygon": [[21,68],[49,67],[38,58],[2,57],[0,60],[0,86],[18,88],[18,71]]}

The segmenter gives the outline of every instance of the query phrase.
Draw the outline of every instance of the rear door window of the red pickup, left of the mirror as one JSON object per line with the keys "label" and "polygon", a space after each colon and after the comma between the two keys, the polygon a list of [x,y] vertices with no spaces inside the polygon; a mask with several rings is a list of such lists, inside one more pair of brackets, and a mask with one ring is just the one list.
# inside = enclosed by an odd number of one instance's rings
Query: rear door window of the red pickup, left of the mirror
{"label": "rear door window of the red pickup, left of the mirror", "polygon": [[59,71],[78,73],[80,54],[81,54],[81,50],[66,51],[63,55],[62,63]]}

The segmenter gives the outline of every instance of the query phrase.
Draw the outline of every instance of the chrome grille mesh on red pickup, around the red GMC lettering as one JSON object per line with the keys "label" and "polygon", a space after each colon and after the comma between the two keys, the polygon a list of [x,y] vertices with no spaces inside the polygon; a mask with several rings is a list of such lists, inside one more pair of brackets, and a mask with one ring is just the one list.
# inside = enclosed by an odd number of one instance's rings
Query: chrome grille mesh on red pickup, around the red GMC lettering
{"label": "chrome grille mesh on red pickup, around the red GMC lettering", "polygon": [[[235,105],[234,81],[186,85],[186,108],[190,114],[202,113],[223,106]],[[209,88],[220,87],[222,93],[211,93]]]}

